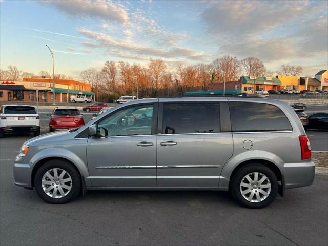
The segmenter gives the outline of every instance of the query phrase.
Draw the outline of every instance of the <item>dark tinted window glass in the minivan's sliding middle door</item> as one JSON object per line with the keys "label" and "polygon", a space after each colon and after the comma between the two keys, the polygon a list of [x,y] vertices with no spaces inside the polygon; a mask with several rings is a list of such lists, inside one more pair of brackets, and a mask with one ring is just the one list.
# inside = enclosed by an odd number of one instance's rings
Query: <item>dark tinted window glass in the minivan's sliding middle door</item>
{"label": "dark tinted window glass in the minivan's sliding middle door", "polygon": [[163,106],[162,134],[219,131],[219,103],[171,103]]}

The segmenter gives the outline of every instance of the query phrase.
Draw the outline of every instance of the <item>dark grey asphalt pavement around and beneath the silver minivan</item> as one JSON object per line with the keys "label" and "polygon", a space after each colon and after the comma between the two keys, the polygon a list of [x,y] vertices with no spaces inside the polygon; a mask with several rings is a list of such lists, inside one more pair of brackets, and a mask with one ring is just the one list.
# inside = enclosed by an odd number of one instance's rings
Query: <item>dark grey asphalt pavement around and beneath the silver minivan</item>
{"label": "dark grey asphalt pavement around and beneath the silver minivan", "polygon": [[327,245],[327,177],[261,210],[211,191],[88,191],[52,205],[13,184],[13,159],[30,137],[0,140],[1,245]]}

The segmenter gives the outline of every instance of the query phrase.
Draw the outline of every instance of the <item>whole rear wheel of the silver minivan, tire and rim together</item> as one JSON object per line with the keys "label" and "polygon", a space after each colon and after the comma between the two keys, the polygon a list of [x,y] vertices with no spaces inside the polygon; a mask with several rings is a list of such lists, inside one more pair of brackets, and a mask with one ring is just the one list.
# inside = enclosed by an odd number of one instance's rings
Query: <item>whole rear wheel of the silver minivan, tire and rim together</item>
{"label": "whole rear wheel of the silver minivan, tire and rim together", "polygon": [[231,180],[231,193],[242,206],[259,209],[271,204],[278,194],[278,180],[274,172],[259,163],[244,166]]}

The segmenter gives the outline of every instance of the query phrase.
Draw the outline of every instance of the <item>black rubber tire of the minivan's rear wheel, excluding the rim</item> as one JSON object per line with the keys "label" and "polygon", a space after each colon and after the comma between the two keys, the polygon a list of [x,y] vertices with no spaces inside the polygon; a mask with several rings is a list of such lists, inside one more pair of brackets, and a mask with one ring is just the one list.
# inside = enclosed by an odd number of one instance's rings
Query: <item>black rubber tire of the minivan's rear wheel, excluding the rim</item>
{"label": "black rubber tire of the minivan's rear wheel, excluding the rim", "polygon": [[[269,196],[262,201],[259,202],[252,202],[245,199],[240,191],[240,184],[243,178],[251,173],[258,172],[267,176],[270,180],[271,191]],[[245,188],[247,189],[247,188]],[[263,190],[264,191],[264,190]],[[260,164],[260,163],[252,163],[250,165],[244,166],[236,171],[236,173],[231,178],[230,183],[230,192],[234,199],[241,204],[243,207],[250,208],[250,209],[260,209],[269,206],[276,198],[278,194],[278,180],[274,172]],[[260,193],[258,193],[260,194]],[[255,195],[254,195],[255,196]]]}

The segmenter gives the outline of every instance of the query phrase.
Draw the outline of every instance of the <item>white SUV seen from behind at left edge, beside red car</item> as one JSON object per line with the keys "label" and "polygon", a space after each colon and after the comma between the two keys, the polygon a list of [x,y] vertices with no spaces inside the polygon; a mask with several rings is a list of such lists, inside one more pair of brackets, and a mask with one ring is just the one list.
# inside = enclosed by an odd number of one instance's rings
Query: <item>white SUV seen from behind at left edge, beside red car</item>
{"label": "white SUV seen from behind at left edge, beside red car", "polygon": [[33,132],[40,135],[40,117],[29,105],[2,105],[0,107],[0,137],[15,132]]}

